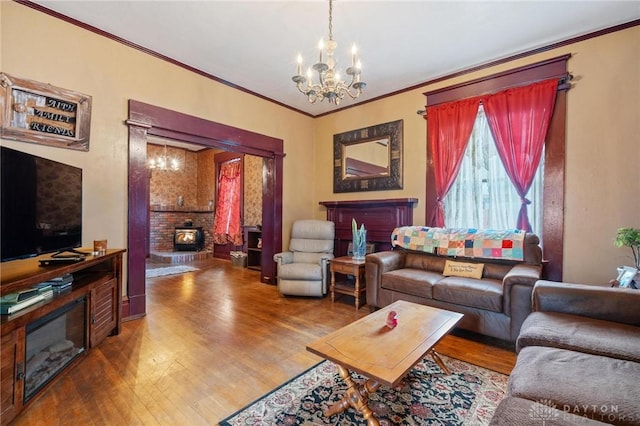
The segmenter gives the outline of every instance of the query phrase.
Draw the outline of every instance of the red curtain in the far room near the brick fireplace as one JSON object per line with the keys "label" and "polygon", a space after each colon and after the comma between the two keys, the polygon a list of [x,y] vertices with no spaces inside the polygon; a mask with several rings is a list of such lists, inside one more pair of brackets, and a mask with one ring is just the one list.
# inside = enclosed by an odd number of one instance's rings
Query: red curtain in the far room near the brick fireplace
{"label": "red curtain in the far room near the brick fireplace", "polygon": [[218,203],[213,224],[215,244],[242,245],[240,226],[240,161],[234,160],[220,165]]}

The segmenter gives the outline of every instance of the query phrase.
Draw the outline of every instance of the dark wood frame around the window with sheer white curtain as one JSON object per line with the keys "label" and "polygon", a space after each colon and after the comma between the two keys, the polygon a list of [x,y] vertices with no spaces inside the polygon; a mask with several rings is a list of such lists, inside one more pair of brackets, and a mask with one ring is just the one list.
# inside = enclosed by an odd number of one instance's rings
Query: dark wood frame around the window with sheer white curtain
{"label": "dark wood frame around the window with sheer white curtain", "polygon": [[[559,80],[556,103],[545,141],[545,168],[543,177],[543,231],[542,247],[544,277],[554,281],[562,280],[564,252],[564,174],[565,174],[565,128],[567,90],[570,74],[567,62],[570,54],[536,62],[512,70],[425,92],[427,106],[457,101],[474,96],[496,93],[511,87],[524,86],[538,81],[557,78]],[[427,120],[428,117],[425,115]],[[436,208],[435,175],[431,158],[431,141],[427,132],[426,167],[426,212],[431,217]]]}

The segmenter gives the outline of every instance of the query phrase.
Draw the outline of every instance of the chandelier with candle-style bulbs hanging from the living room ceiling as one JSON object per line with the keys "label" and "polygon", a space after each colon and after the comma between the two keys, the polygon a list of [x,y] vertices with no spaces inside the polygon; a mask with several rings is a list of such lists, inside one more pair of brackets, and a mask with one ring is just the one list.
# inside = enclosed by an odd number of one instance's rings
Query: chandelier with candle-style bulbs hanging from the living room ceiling
{"label": "chandelier with candle-style bulbs hanging from the living room ceiling", "polygon": [[[345,95],[349,95],[351,99],[356,99],[367,85],[360,81],[362,64],[357,57],[355,44],[351,49],[351,66],[346,70],[350,81],[347,84],[340,78],[340,73],[336,70],[336,60],[333,57],[333,52],[338,44],[333,41],[332,19],[333,0],[329,0],[329,41],[325,45],[324,40],[320,39],[318,45],[320,57],[318,63],[313,65],[313,70],[318,73],[318,82],[313,81],[311,67],[307,70],[306,77],[302,75],[302,56],[300,54],[298,54],[298,74],[291,77],[298,90],[306,95],[307,100],[312,104],[327,99],[330,103],[338,105]],[[326,53],[324,52],[325,49]],[[325,56],[326,60],[323,61]]]}

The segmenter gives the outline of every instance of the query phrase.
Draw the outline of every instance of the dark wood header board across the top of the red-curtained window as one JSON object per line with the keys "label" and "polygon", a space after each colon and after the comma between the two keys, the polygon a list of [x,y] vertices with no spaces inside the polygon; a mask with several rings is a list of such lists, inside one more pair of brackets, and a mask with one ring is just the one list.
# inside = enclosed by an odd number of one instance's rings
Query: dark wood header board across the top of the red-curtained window
{"label": "dark wood header board across the top of the red-curtained window", "polygon": [[[487,77],[431,90],[423,94],[427,97],[427,106],[434,106],[445,102],[497,93],[511,87],[523,86],[552,78],[566,79],[569,58],[571,58],[571,55],[562,55]],[[566,86],[563,88],[566,89]]]}

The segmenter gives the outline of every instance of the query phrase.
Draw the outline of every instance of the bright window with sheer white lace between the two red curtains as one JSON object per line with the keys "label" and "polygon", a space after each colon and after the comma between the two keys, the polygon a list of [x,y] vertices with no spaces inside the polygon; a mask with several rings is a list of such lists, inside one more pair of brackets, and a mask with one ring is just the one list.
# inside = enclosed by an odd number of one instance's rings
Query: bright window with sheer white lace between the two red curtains
{"label": "bright window with sheer white lace between the two red curtains", "polygon": [[[544,154],[527,193],[532,230],[542,239]],[[458,176],[444,199],[451,228],[514,229],[521,202],[498,155],[482,106]]]}

